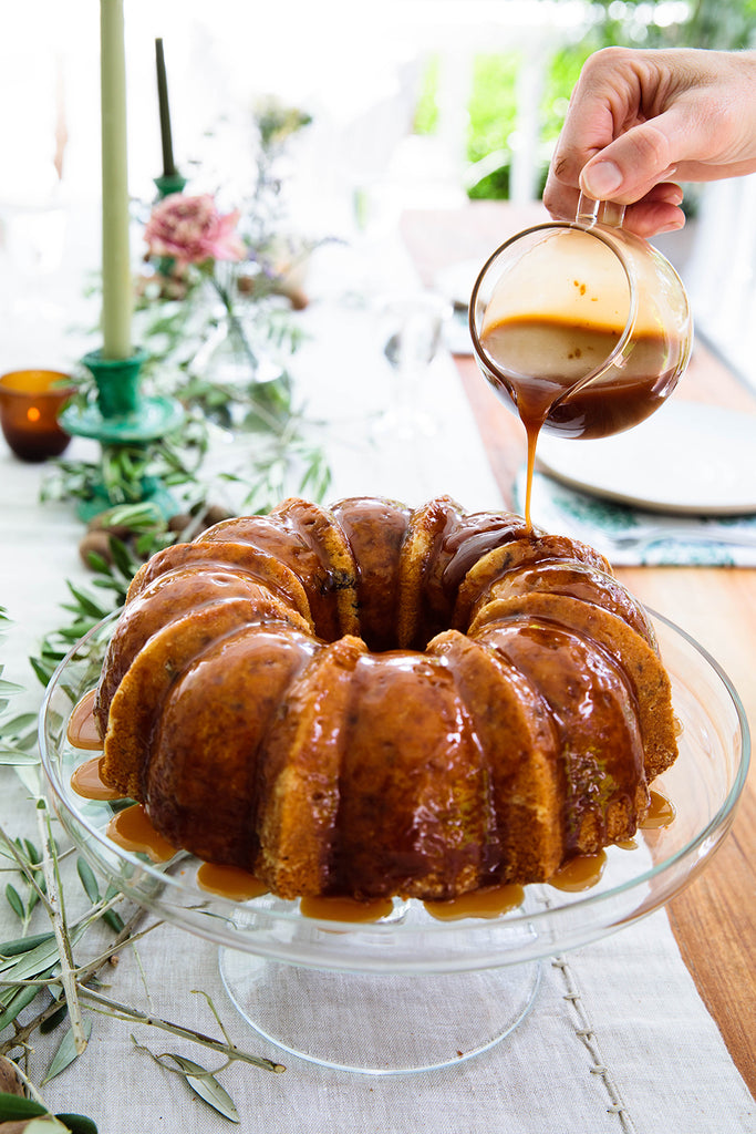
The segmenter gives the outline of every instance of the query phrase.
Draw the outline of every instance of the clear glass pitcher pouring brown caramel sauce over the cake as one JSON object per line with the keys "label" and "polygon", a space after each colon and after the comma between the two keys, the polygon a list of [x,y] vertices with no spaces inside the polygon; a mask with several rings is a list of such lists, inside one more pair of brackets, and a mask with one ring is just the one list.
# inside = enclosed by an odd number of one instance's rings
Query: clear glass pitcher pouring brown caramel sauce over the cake
{"label": "clear glass pitcher pouring brown caramel sauce over the cake", "polygon": [[566,438],[622,432],[659,408],[688,364],[682,281],[621,228],[623,212],[581,196],[575,221],[507,240],[475,282],[478,365],[529,439],[541,429]]}

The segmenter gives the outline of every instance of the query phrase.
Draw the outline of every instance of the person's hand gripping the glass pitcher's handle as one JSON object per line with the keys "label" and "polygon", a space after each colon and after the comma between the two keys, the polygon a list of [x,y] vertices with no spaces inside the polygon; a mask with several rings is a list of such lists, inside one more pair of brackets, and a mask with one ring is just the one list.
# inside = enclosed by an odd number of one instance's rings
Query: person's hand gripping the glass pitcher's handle
{"label": "person's hand gripping the glass pitcher's handle", "polygon": [[569,220],[580,191],[617,201],[648,237],[682,228],[677,181],[754,171],[756,52],[604,48],[572,92],[543,200]]}

